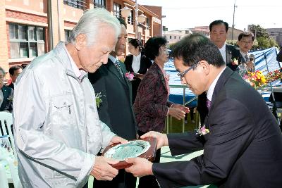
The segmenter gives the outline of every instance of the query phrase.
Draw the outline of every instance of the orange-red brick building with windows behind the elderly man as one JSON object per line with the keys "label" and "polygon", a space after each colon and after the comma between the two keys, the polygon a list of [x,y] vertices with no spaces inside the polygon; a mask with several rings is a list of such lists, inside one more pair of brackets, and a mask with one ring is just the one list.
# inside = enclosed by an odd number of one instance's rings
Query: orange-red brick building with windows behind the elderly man
{"label": "orange-red brick building with windows behind the elderly man", "polygon": [[[125,5],[132,9],[125,18],[130,40],[135,38],[135,1],[132,0],[1,0],[0,66],[8,72],[11,65],[30,63],[59,41],[66,41],[86,9],[103,7],[121,17]],[[161,36],[161,7],[138,5],[140,13],[147,18],[137,27],[138,38],[146,42],[149,37]]]}

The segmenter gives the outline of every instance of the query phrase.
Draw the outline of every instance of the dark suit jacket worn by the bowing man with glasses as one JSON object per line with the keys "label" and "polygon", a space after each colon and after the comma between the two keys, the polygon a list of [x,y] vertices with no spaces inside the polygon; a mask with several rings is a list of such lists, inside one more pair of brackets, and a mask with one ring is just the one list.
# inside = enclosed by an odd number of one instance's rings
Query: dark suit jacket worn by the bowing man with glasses
{"label": "dark suit jacket worn by the bowing man with glasses", "polygon": [[161,187],[282,187],[282,134],[262,96],[229,68],[219,77],[209,133],[168,134],[173,155],[204,149],[191,161],[154,163]]}

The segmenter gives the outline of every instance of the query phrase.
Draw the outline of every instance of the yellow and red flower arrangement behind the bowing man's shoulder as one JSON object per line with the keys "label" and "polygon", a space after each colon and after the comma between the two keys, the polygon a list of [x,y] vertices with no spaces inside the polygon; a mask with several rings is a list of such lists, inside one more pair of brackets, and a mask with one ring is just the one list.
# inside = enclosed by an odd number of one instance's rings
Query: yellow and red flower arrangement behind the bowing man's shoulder
{"label": "yellow and red flower arrangement behind the bowing man's shoulder", "polygon": [[255,73],[247,72],[243,79],[255,89],[260,89],[267,84],[266,77],[259,70],[255,71]]}

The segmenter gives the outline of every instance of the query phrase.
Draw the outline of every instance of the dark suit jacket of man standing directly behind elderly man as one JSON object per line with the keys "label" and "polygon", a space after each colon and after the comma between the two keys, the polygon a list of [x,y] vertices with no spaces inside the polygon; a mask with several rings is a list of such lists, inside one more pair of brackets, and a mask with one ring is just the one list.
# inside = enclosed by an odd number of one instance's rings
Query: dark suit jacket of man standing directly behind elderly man
{"label": "dark suit jacket of man standing directly behind elderly man", "polygon": [[[121,63],[123,75],[125,65]],[[136,139],[136,125],[133,106],[130,101],[130,82],[121,77],[114,63],[109,59],[95,73],[88,74],[95,93],[102,94],[98,108],[99,118],[112,132],[125,139]]]}

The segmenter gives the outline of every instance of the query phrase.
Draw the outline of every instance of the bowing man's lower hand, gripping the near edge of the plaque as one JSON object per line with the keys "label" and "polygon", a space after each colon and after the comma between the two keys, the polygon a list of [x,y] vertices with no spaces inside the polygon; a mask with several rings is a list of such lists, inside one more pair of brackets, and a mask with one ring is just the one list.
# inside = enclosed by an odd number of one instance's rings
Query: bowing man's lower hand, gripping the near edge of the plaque
{"label": "bowing man's lower hand, gripping the near edge of the plaque", "polygon": [[125,168],[125,171],[132,173],[135,177],[142,177],[145,175],[153,175],[152,165],[150,161],[145,158],[126,158],[126,162],[133,163],[129,168]]}

